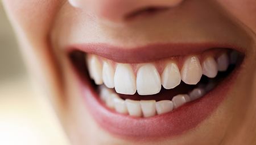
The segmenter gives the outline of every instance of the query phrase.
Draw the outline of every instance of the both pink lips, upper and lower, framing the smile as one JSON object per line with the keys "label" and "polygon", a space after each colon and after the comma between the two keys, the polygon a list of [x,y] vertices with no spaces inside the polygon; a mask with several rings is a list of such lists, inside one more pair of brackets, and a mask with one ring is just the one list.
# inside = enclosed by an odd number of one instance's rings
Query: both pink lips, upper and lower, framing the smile
{"label": "both pink lips, upper and lower, framing the smile", "polygon": [[[180,45],[180,44],[177,44],[177,45]],[[105,47],[102,47],[102,46],[105,46]],[[153,46],[147,49],[147,51],[149,52],[146,51],[144,53],[147,53],[148,55],[152,54],[151,49],[154,49],[155,47],[159,47],[159,44],[155,44]],[[164,44],[164,47],[162,47],[161,49],[165,49],[166,51],[168,51],[167,50],[168,46],[170,46],[170,44]],[[74,49],[79,49],[83,52],[94,53],[94,54],[96,53],[97,55],[101,55],[107,58],[111,57],[112,60],[118,59],[119,62],[120,61],[130,62],[132,61],[132,59],[136,59],[136,62],[145,60],[145,59],[139,59],[139,55],[131,56],[131,58],[129,58],[128,56],[134,55],[135,53],[134,51],[138,53],[142,53],[142,51],[146,47],[141,47],[136,50],[125,49],[124,52],[122,52],[122,49],[118,49],[117,51],[114,52],[114,49],[116,48],[107,49],[109,47],[110,45],[103,45],[103,44],[76,45],[76,47],[75,45],[73,45],[72,47],[70,47],[69,51]],[[196,47],[197,49],[193,49]],[[162,57],[163,56],[167,57],[167,56],[170,56],[170,54],[182,55],[182,53],[184,52],[185,53],[200,52],[200,51],[204,51],[206,49],[214,48],[214,47],[220,48],[222,46],[217,44],[209,44],[209,43],[195,44],[195,45],[184,45],[183,52],[178,52],[178,53],[176,52],[177,48],[180,48],[180,47],[176,47],[175,51],[173,50],[168,51],[168,54],[161,53],[160,51],[155,51],[155,52],[158,52],[157,54],[160,54]],[[227,47],[228,45],[225,45],[225,48]],[[107,49],[107,52],[104,52],[105,49]],[[234,49],[238,49],[239,51],[242,48],[236,47]],[[113,52],[113,53],[110,53],[110,52]],[[120,59],[120,56],[125,55],[126,52],[129,54],[125,58]],[[121,53],[121,55],[119,53]],[[156,57],[159,57],[159,56],[153,57],[154,55],[151,55],[151,56],[152,56],[151,59],[156,59]],[[127,58],[129,59],[127,60]],[[227,76],[219,85],[217,85],[212,91],[210,91],[208,94],[206,94],[204,97],[200,98],[199,100],[189,102],[179,107],[178,109],[171,111],[170,113],[156,115],[150,118],[134,118],[128,115],[116,113],[115,111],[108,109],[108,107],[106,107],[100,100],[100,97],[98,96],[96,90],[94,90],[94,88],[92,87],[92,84],[90,84],[90,81],[88,80],[89,78],[81,78],[76,71],[75,71],[75,74],[77,77],[77,81],[79,82],[82,97],[84,97],[84,100],[85,100],[85,106],[87,107],[89,112],[92,114],[93,118],[98,123],[98,125],[100,125],[103,129],[108,130],[112,134],[117,135],[121,138],[143,140],[145,138],[146,139],[159,139],[159,138],[167,138],[167,137],[170,138],[172,136],[183,134],[184,132],[194,129],[196,126],[199,126],[201,122],[203,122],[205,119],[210,117],[210,114],[212,114],[214,110],[216,110],[217,107],[221,104],[221,102],[224,101],[225,98],[228,96],[227,94],[230,88],[232,88],[235,82],[234,80],[236,80],[236,77],[238,76],[239,72],[240,72],[240,67],[234,69],[234,71],[231,74],[229,74],[229,76]]]}

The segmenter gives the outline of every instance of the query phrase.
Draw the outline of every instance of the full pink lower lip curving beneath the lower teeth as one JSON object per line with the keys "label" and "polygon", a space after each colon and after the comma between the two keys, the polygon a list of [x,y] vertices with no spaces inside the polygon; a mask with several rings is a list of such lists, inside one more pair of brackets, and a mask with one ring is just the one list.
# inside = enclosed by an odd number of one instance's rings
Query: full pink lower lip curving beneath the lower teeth
{"label": "full pink lower lip curving beneath the lower teeth", "polygon": [[77,80],[80,83],[85,106],[98,125],[120,138],[141,140],[170,138],[198,126],[200,122],[210,117],[210,114],[228,96],[239,70],[235,69],[216,88],[199,100],[189,102],[170,113],[150,118],[134,118],[110,110],[101,102],[90,81],[81,81],[79,75]]}

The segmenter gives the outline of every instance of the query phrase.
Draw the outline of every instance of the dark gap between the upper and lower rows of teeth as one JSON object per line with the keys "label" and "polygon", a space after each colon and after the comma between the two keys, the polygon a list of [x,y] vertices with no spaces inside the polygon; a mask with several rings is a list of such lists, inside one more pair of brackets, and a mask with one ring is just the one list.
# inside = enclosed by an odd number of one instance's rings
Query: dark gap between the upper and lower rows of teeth
{"label": "dark gap between the upper and lower rows of teeth", "polygon": [[187,94],[189,91],[191,91],[193,88],[195,88],[196,85],[187,85],[184,82],[181,82],[179,86],[176,86],[174,89],[162,89],[158,94],[153,95],[146,95],[141,96],[138,93],[135,93],[134,95],[126,95],[126,94],[118,94],[121,98],[130,99],[130,100],[172,100],[174,96],[177,94]]}

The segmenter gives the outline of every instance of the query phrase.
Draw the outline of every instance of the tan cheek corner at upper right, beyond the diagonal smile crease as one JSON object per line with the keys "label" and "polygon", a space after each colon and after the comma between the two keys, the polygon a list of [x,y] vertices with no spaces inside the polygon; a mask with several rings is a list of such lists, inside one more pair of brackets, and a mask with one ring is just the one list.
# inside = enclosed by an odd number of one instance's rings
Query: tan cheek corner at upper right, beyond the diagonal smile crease
{"label": "tan cheek corner at upper right, beyond the diagonal smile crease", "polygon": [[256,32],[256,1],[255,0],[217,0],[218,3],[234,15],[243,24]]}

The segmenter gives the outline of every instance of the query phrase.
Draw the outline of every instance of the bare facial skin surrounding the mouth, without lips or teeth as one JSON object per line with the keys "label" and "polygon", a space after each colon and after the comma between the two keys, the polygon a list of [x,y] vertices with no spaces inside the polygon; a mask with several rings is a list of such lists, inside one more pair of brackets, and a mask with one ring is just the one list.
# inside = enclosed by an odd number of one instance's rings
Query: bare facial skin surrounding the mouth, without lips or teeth
{"label": "bare facial skin surrounding the mouth, without lips or teeth", "polygon": [[[169,15],[169,19],[159,13],[152,18],[142,15],[131,20],[124,18],[134,8],[172,6],[172,1],[133,0],[129,1],[130,5],[126,5],[127,1],[115,0],[86,2],[90,9],[77,9],[68,1],[60,0],[3,0],[31,75],[47,92],[73,144],[256,144],[256,68],[252,67],[256,66],[256,1],[184,1],[191,9],[182,5],[171,7],[173,15]],[[207,15],[212,17],[207,19],[204,17]],[[171,23],[174,20],[176,23]],[[170,25],[160,25],[159,21]],[[221,32],[213,31],[211,23],[223,27]],[[236,27],[226,30],[227,25]],[[150,29],[152,26],[155,29]],[[202,31],[194,31],[196,28],[202,28]],[[134,47],[159,41],[193,42],[200,36],[197,34],[204,31],[207,34],[200,40],[216,39],[213,34],[234,31],[249,42],[245,44],[247,63],[243,71],[228,97],[208,119],[191,131],[155,140],[122,138],[102,129],[94,121],[79,93],[77,78],[64,46],[96,42]],[[236,39],[242,45],[247,43],[240,42],[239,37]]]}

